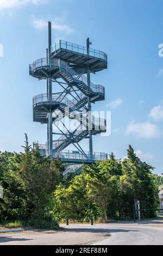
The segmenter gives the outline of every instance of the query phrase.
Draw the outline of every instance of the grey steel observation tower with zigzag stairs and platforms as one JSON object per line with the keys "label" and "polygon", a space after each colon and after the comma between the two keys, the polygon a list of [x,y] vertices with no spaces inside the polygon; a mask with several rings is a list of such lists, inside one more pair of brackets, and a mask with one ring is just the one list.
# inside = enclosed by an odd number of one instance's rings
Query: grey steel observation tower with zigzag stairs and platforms
{"label": "grey steel observation tower with zigzag stairs and platforms", "polygon": [[[60,157],[66,163],[94,163],[105,160],[108,154],[93,153],[92,136],[106,131],[106,120],[91,114],[91,104],[105,99],[105,89],[91,82],[90,75],[107,68],[107,55],[90,48],[59,40],[52,45],[51,22],[48,22],[48,49],[46,58],[29,65],[29,74],[39,80],[46,80],[47,92],[33,97],[33,121],[47,124],[47,143],[39,144],[41,155]],[[86,76],[85,76],[86,74]],[[62,91],[52,92],[52,83]],[[74,131],[65,127],[63,119],[76,119],[79,126]],[[53,125],[58,127],[53,132]],[[53,136],[55,135],[55,140]],[[57,138],[57,136],[61,137]],[[89,152],[79,145],[82,139],[89,139]],[[73,144],[78,151],[65,150]],[[34,143],[35,147],[35,143]]]}

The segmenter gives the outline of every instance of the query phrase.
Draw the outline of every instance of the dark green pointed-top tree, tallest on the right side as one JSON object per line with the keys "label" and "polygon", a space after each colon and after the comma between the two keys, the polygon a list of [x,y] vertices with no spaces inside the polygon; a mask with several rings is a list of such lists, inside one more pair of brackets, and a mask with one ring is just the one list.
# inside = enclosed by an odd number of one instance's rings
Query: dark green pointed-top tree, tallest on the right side
{"label": "dark green pointed-top tree, tallest on the right side", "polygon": [[[153,169],[151,165],[142,162],[129,145],[128,159],[122,162],[123,176],[120,179],[122,209],[124,205],[131,208],[138,199],[141,201],[142,209],[156,208],[158,194],[153,181]],[[152,214],[151,212],[149,216]]]}

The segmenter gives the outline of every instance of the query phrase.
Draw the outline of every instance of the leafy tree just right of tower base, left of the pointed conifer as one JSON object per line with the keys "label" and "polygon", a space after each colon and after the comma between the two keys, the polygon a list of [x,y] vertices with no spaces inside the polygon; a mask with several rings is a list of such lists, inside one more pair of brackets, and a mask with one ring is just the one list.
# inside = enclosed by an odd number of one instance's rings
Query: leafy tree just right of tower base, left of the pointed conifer
{"label": "leafy tree just right of tower base, left of the pointed conifer", "polygon": [[103,212],[104,220],[113,218],[118,211],[118,180],[122,174],[121,161],[111,159],[96,162],[89,170],[90,195]]}

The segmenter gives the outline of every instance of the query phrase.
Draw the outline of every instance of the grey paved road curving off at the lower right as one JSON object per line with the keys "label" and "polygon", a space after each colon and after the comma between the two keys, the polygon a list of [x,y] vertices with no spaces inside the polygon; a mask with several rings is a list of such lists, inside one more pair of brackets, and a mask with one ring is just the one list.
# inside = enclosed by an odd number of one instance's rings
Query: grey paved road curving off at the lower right
{"label": "grey paved road curving off at the lower right", "polygon": [[[75,228],[76,225],[71,225]],[[83,227],[84,225],[78,225]],[[90,227],[87,227],[90,228]],[[139,223],[115,223],[95,225],[92,230],[103,230],[106,235],[93,245],[163,245],[163,221],[145,221]],[[111,236],[108,236],[109,234]]]}

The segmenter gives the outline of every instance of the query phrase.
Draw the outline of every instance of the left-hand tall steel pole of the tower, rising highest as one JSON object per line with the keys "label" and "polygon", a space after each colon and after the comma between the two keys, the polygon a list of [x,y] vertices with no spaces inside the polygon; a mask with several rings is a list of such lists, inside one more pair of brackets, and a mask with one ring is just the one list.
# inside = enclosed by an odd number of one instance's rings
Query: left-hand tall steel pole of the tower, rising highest
{"label": "left-hand tall steel pole of the tower, rising highest", "polygon": [[[52,55],[52,25],[48,22],[48,65],[51,65]],[[48,77],[48,101],[52,101],[52,77]],[[50,109],[48,113],[48,154],[53,155],[53,118],[52,111]]]}

